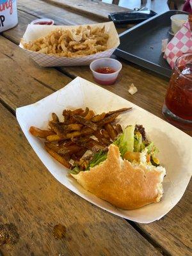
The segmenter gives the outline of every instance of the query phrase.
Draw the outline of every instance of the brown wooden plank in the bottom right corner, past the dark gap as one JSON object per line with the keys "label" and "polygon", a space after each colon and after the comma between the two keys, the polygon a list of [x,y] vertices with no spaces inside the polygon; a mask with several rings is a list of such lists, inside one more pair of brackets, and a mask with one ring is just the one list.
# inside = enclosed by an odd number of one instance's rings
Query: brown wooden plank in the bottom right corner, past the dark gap
{"label": "brown wooden plank in the bottom right corner, past the dark gap", "polygon": [[166,248],[170,255],[192,255],[192,180],[180,202],[164,218],[150,225],[140,224],[141,230]]}

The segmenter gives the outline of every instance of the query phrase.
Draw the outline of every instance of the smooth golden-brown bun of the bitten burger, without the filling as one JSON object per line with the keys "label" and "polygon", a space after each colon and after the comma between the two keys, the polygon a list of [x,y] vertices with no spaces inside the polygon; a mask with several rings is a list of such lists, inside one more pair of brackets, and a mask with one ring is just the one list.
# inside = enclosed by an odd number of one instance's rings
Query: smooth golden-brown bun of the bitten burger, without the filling
{"label": "smooth golden-brown bun of the bitten burger, without the filling", "polygon": [[163,196],[163,167],[131,164],[109,146],[108,158],[89,171],[71,174],[84,189],[122,209],[159,202]]}

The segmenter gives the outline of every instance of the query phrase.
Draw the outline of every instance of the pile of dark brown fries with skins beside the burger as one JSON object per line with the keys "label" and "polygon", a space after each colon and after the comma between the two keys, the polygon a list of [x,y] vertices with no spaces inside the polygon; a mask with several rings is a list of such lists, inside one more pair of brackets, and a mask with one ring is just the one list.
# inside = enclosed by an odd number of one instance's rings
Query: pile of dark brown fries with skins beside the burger
{"label": "pile of dark brown fries with skins beside the burger", "polygon": [[[118,115],[131,108],[122,108],[108,113],[95,113],[86,108],[64,109],[61,121],[55,113],[49,121],[49,129],[31,126],[29,132],[45,139],[45,150],[65,167],[72,169],[91,150],[93,153],[105,150],[122,132],[120,124],[115,124]],[[83,168],[83,166],[82,166]]]}

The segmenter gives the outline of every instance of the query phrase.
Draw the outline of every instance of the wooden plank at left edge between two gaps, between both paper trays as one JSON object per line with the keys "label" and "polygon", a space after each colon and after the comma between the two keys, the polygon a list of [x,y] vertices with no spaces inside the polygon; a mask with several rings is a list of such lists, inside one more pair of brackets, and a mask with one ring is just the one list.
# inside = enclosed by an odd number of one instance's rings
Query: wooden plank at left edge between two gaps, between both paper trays
{"label": "wooden plank at left edge between two gaps, between both paper trays", "polygon": [[31,104],[68,84],[54,68],[39,68],[20,47],[0,36],[0,94],[10,108]]}

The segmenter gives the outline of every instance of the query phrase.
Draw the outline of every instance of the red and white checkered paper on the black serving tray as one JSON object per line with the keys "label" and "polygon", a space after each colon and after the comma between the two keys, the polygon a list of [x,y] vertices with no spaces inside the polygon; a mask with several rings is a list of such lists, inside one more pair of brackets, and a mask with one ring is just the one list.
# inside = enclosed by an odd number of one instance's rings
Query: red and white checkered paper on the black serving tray
{"label": "red and white checkered paper on the black serving tray", "polygon": [[[192,52],[192,33],[189,28],[189,22],[186,22],[168,43],[164,52],[164,58],[173,68],[177,58],[187,52]],[[181,64],[185,65],[186,63]]]}

